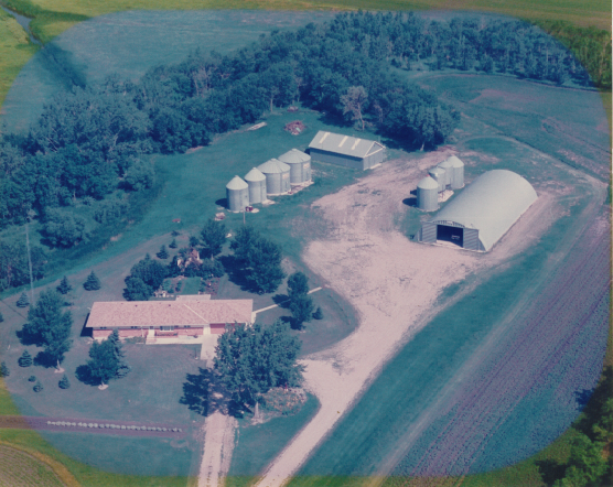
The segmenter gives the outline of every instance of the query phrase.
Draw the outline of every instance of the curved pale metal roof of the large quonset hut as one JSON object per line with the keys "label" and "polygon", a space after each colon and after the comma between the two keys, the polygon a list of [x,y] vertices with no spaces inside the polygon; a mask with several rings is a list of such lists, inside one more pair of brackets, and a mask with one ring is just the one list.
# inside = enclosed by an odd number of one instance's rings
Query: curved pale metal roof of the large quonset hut
{"label": "curved pale metal roof of the large quonset hut", "polygon": [[430,221],[443,225],[452,221],[464,228],[476,228],[487,251],[537,197],[531,184],[519,174],[506,170],[487,171]]}

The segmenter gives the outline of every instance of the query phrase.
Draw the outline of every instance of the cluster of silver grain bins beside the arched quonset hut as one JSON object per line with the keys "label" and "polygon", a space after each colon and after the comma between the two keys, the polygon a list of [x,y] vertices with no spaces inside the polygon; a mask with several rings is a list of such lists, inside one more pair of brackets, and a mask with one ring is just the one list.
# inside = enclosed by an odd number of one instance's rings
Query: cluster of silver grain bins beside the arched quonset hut
{"label": "cluster of silver grain bins beside the arched quonset hut", "polygon": [[464,187],[464,163],[455,155],[428,171],[417,185],[417,206],[424,212],[439,209],[439,193]]}

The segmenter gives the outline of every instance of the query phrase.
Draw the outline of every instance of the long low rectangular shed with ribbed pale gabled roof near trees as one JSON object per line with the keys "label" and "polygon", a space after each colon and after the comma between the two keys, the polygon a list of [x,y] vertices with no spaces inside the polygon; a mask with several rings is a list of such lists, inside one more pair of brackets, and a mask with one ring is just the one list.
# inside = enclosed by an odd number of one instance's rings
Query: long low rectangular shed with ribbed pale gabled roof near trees
{"label": "long low rectangular shed with ribbed pale gabled roof near trees", "polygon": [[315,162],[367,170],[383,162],[385,147],[374,140],[319,131],[309,144]]}

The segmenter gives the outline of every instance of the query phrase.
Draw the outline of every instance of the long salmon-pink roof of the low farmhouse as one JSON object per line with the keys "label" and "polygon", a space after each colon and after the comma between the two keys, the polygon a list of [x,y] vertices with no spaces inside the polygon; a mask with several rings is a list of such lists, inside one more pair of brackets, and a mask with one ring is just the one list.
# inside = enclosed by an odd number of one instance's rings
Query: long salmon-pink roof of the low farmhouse
{"label": "long salmon-pink roof of the low farmhouse", "polygon": [[99,301],[87,328],[251,323],[254,300]]}

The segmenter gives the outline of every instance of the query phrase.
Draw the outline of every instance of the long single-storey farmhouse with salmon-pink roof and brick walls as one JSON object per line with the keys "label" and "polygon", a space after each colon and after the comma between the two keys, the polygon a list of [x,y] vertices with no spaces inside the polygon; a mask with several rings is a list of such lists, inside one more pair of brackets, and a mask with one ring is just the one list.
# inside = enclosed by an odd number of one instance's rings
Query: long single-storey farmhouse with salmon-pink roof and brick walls
{"label": "long single-storey farmhouse with salmon-pink roof and brick walls", "polygon": [[[192,299],[190,299],[192,297]],[[176,301],[97,302],[85,325],[95,339],[114,329],[121,338],[183,337],[224,333],[226,325],[254,323],[252,300],[209,300],[180,296]]]}

